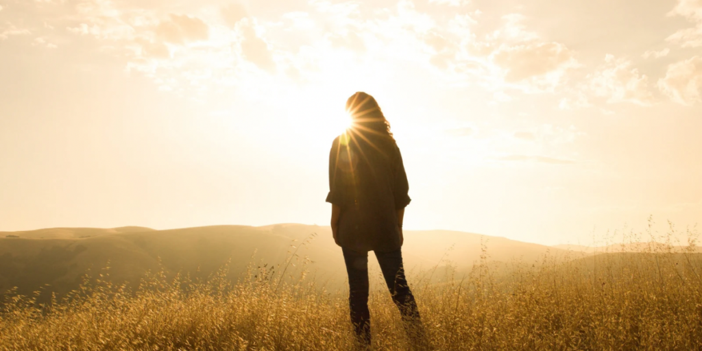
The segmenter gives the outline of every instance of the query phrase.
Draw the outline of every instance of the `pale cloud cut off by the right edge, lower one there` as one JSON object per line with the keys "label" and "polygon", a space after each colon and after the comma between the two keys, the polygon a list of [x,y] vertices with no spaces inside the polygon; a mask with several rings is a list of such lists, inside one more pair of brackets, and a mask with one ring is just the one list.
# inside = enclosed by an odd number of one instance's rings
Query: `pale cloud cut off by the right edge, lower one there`
{"label": "pale cloud cut off by the right edge, lower one there", "polygon": [[658,88],[682,105],[702,102],[702,57],[694,56],[668,66],[665,77],[658,80]]}

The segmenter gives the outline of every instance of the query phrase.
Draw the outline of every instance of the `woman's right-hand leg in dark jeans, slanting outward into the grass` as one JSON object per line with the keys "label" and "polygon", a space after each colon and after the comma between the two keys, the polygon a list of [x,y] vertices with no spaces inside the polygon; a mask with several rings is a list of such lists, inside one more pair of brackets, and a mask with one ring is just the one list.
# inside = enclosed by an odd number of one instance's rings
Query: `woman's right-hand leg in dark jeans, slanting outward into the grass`
{"label": "woman's right-hand leg in dark jeans, slanting outward into the grass", "polygon": [[402,315],[405,330],[412,341],[413,347],[419,350],[428,350],[428,340],[419,317],[417,303],[404,276],[402,250],[376,252],[376,257],[378,258],[380,270],[383,271],[385,284],[388,285],[388,290],[390,290],[392,295],[392,301],[397,305]]}

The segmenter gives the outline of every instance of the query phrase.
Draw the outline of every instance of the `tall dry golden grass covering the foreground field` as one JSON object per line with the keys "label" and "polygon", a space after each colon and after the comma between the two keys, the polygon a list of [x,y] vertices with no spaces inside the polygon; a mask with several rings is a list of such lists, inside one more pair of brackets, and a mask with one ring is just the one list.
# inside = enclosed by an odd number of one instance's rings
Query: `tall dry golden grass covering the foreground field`
{"label": "tall dry golden grass covering the foreground field", "polygon": [[[437,267],[411,287],[436,350],[702,350],[702,260],[694,239],[688,247],[546,255],[509,269],[491,265],[484,249],[469,274]],[[291,267],[254,266],[238,282],[225,270],[206,282],[153,274],[135,291],[103,274],[42,306],[6,296],[0,350],[352,350],[345,293]],[[298,279],[283,281],[291,272]],[[376,286],[373,348],[411,349]]]}

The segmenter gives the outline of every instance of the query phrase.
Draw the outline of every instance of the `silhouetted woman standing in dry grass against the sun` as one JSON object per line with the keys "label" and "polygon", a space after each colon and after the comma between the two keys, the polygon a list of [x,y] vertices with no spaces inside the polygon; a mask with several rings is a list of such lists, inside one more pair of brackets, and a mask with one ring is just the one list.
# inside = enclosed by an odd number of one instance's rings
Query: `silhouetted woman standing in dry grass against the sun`
{"label": "silhouetted woman standing in dry grass against the sun", "polygon": [[346,110],[352,126],[331,145],[326,201],[332,204],[331,230],[346,263],[351,322],[359,342],[370,345],[368,251],[373,251],[417,347],[425,338],[400,249],[404,208],[411,201],[402,155],[371,95],[355,93]]}

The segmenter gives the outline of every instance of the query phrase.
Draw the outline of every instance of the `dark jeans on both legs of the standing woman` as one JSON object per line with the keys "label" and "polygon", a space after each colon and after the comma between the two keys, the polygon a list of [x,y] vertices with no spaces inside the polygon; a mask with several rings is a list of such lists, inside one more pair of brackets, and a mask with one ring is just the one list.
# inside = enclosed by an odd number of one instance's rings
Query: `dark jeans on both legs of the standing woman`
{"label": "dark jeans on both legs of the standing woman", "polygon": [[[346,272],[349,276],[349,307],[351,322],[360,343],[371,343],[371,314],[368,310],[368,253],[343,248]],[[407,285],[402,266],[402,251],[376,252],[385,284],[388,285],[392,302],[402,315],[405,331],[412,343],[421,347],[425,343],[424,330],[412,291]]]}

